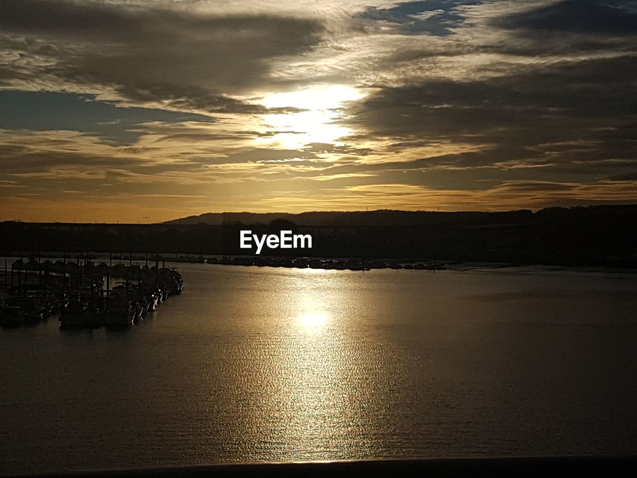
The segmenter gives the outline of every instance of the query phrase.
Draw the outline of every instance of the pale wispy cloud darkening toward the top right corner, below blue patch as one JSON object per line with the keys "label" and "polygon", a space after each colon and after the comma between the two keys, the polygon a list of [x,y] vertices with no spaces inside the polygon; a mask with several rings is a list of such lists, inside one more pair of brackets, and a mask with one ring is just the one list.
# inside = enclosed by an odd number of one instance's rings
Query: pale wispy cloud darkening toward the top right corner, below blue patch
{"label": "pale wispy cloud darkening toward the top right corner, below blue patch", "polygon": [[[437,3],[403,3],[396,8],[432,8]],[[637,4],[632,0],[443,3],[462,17],[448,29],[450,34],[429,35],[423,41],[391,26],[368,32],[368,57],[375,59],[366,67],[369,83],[506,76],[540,62],[637,52]],[[415,19],[413,14],[406,18]]]}

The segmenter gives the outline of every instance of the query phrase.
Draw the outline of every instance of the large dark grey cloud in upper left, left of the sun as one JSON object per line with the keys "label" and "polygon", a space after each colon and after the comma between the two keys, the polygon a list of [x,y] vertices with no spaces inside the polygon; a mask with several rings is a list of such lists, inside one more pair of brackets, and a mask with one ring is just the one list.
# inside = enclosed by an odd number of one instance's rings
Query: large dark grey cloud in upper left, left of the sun
{"label": "large dark grey cloud in upper left, left of the sun", "polygon": [[[0,34],[58,47],[48,48],[48,63],[5,66],[0,80],[11,74],[24,80],[31,71],[40,78],[111,87],[132,101],[204,112],[264,112],[227,94],[261,84],[273,59],[308,52],[324,33],[320,22],[303,18],[70,0],[8,0],[2,10]],[[36,55],[33,48],[24,51]]]}

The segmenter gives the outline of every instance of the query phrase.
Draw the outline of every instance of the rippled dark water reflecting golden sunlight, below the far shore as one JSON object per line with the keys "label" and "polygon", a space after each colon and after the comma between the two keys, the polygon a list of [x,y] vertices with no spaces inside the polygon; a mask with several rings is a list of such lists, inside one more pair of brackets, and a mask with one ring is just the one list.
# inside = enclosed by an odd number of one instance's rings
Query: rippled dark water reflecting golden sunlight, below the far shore
{"label": "rippled dark water reflecting golden sunlight, below the far shore", "polygon": [[0,330],[0,474],[637,452],[634,276],[179,266],[131,330]]}

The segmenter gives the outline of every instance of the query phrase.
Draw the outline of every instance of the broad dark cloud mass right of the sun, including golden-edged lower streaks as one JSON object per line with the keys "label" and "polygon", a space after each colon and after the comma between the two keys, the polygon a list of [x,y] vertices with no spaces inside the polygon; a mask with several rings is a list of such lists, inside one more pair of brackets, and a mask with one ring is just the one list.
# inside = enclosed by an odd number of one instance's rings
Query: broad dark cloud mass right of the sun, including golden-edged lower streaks
{"label": "broad dark cloud mass right of the sun, including golden-edged lower streaks", "polygon": [[391,141],[388,152],[440,142],[478,145],[478,151],[416,159],[408,168],[568,164],[566,177],[590,173],[590,163],[598,177],[608,177],[623,167],[620,160],[637,157],[636,75],[637,57],[624,56],[387,87],[353,108],[348,125],[361,132],[357,140]]}

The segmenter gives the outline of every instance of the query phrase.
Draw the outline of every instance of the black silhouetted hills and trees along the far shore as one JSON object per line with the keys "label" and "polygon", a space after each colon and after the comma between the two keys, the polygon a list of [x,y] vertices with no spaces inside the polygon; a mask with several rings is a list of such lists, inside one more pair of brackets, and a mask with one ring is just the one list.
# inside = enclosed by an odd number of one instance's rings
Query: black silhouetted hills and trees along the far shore
{"label": "black silhouetted hills and trees along the far shore", "polygon": [[224,224],[3,222],[0,251],[243,255],[254,251],[240,249],[241,229],[257,235],[292,229],[310,234],[312,249],[264,248],[262,255],[637,267],[637,205],[547,208],[534,214],[314,212],[268,215],[265,223],[252,225],[236,217],[225,215]]}

